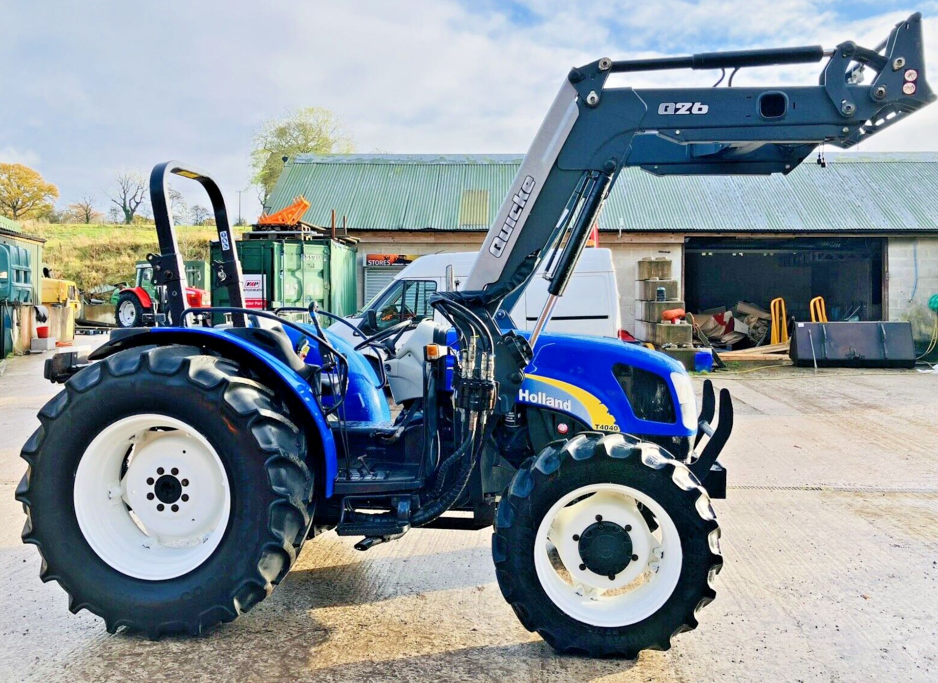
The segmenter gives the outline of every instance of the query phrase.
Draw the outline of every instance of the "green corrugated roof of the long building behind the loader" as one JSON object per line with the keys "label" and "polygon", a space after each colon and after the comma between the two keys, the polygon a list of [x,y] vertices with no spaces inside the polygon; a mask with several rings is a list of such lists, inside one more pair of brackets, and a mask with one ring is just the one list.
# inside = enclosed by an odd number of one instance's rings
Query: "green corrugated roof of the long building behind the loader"
{"label": "green corrugated roof of the long building behind the loader", "polygon": [[[302,155],[287,162],[266,207],[297,195],[303,219],[350,230],[485,230],[519,155]],[[938,155],[840,154],[787,176],[657,177],[623,171],[600,230],[676,232],[938,231]],[[485,198],[488,216],[482,220]],[[467,216],[472,216],[467,218]],[[471,220],[466,224],[465,220]]]}

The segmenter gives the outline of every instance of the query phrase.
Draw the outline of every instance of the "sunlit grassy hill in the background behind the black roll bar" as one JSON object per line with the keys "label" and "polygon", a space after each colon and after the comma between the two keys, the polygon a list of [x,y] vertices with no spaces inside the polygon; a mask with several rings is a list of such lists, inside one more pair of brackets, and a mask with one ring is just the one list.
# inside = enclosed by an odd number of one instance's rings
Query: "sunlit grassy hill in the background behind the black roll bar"
{"label": "sunlit grassy hill in the background behind the black roll bar", "polygon": [[[159,250],[152,225],[33,224],[24,231],[46,240],[43,258],[53,274],[82,290],[132,281],[136,262]],[[176,234],[184,259],[207,260],[208,243],[218,239],[211,226],[177,226]]]}

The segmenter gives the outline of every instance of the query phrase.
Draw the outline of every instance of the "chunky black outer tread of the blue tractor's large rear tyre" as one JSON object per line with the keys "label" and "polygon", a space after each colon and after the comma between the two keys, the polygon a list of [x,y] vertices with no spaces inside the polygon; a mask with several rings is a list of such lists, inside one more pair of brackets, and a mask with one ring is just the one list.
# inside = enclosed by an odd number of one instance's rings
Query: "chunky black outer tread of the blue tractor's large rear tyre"
{"label": "chunky black outer tread of the blue tractor's large rear tyre", "polygon": [[[43,441],[50,425],[66,412],[71,398],[96,386],[104,374],[118,378],[142,372],[144,368],[167,378],[178,377],[196,390],[219,392],[224,404],[245,419],[249,427],[246,431],[255,439],[258,447],[264,453],[269,453],[265,460],[268,484],[278,497],[268,508],[266,535],[269,541],[262,545],[256,562],[252,563],[253,575],[234,587],[228,601],[210,605],[197,614],[156,623],[140,616],[113,615],[108,605],[92,604],[76,595],[67,581],[50,569],[43,553],[42,539],[34,533],[30,506],[32,469],[43,457]],[[39,551],[39,577],[44,582],[55,580],[62,586],[68,594],[69,611],[77,613],[87,609],[101,616],[108,632],[129,627],[144,631],[151,638],[178,631],[198,634],[215,623],[231,621],[248,612],[264,600],[289,572],[306,538],[312,518],[313,481],[310,468],[303,460],[304,436],[295,423],[286,417],[287,409],[276,400],[273,392],[252,379],[236,375],[237,371],[236,364],[217,356],[204,355],[195,347],[148,346],[127,349],[85,368],[69,379],[65,389],[39,411],[41,425],[27,440],[21,453],[27,469],[23,481],[17,487],[16,499],[23,503],[26,513],[23,542],[36,545]],[[250,397],[242,395],[238,401],[229,400],[229,394],[246,391],[250,392]]]}

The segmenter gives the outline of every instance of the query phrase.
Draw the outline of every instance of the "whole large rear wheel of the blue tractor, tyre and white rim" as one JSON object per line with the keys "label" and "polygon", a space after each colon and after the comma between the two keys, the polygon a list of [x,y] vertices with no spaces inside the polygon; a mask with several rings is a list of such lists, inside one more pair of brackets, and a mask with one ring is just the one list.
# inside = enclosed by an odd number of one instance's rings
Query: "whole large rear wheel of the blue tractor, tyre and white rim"
{"label": "whole large rear wheel of the blue tractor, tyre and white rim", "polygon": [[[289,572],[313,512],[305,435],[238,364],[193,347],[127,349],[69,379],[38,417],[16,492],[23,542],[73,613],[87,609],[109,632],[198,634]],[[113,431],[122,424],[144,426],[127,438]],[[197,517],[205,527],[177,533]]]}

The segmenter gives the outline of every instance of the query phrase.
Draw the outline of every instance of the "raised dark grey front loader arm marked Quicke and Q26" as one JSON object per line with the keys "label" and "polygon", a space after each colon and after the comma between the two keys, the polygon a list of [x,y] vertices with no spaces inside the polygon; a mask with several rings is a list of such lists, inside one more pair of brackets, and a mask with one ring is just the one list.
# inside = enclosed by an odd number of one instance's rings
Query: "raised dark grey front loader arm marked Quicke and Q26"
{"label": "raised dark grey front loader arm marked Quicke and Q26", "polygon": [[[613,73],[672,68],[725,73],[825,57],[816,85],[605,87]],[[861,82],[865,69],[875,72],[869,84]],[[574,68],[524,157],[465,290],[446,298],[458,299],[480,317],[505,319],[539,261],[548,259],[544,276],[550,296],[531,335],[533,347],[622,169],[637,166],[658,175],[788,173],[817,145],[852,147],[934,98],[925,78],[918,13],[896,24],[874,49],[847,41],[829,50],[603,58]],[[493,324],[492,330],[498,327]],[[498,355],[496,379],[507,409],[520,386],[524,354]]]}

